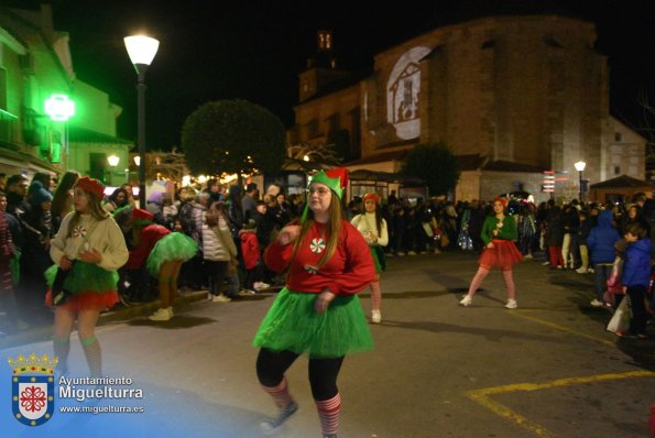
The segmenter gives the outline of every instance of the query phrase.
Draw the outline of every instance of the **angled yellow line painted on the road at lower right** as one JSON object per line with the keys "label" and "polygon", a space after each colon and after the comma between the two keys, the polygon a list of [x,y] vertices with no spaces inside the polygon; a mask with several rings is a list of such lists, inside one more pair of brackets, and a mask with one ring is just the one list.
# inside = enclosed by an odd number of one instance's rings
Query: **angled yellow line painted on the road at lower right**
{"label": "angled yellow line painted on the road at lower right", "polygon": [[552,432],[550,430],[546,429],[545,427],[531,421],[526,417],[515,413],[514,410],[510,409],[507,406],[494,402],[490,398],[491,395],[495,394],[505,394],[511,392],[518,392],[518,391],[539,391],[539,390],[547,390],[552,387],[564,387],[564,386],[571,386],[571,385],[580,385],[587,383],[597,383],[610,380],[621,380],[621,379],[636,379],[636,377],[655,377],[655,372],[652,371],[631,371],[626,373],[609,373],[609,374],[598,374],[598,375],[590,375],[586,377],[567,377],[567,379],[557,379],[550,382],[544,383],[515,383],[512,385],[505,386],[494,386],[494,387],[485,387],[482,390],[474,390],[468,391],[466,394],[469,398],[473,402],[481,404],[482,406],[487,407],[489,410],[493,412],[494,414],[505,418],[510,421],[515,423],[517,426],[521,426],[538,437],[546,437],[553,438],[557,437],[556,434]]}

